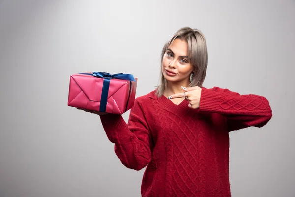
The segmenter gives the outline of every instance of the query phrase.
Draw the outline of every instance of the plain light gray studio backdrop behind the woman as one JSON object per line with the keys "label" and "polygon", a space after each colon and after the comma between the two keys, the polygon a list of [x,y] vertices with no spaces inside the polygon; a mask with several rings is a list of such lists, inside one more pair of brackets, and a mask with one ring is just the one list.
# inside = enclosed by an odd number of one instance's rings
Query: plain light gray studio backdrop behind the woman
{"label": "plain light gray studio backdrop behind the woman", "polygon": [[132,73],[147,94],[184,26],[207,38],[206,87],[273,110],[230,134],[233,197],[294,197],[294,0],[1,0],[0,197],[139,197],[144,170],[120,163],[97,115],[67,106],[69,77]]}

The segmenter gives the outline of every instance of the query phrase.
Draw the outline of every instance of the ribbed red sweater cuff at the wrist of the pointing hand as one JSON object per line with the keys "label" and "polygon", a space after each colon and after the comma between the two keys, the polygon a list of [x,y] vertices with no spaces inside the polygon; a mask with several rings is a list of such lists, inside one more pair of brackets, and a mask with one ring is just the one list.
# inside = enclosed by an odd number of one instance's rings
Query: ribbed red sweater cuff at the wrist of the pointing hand
{"label": "ribbed red sweater cuff at the wrist of the pointing hand", "polygon": [[201,98],[200,98],[200,111],[207,112],[222,112],[220,105],[223,102],[223,95],[220,92],[210,90],[210,89],[202,89]]}

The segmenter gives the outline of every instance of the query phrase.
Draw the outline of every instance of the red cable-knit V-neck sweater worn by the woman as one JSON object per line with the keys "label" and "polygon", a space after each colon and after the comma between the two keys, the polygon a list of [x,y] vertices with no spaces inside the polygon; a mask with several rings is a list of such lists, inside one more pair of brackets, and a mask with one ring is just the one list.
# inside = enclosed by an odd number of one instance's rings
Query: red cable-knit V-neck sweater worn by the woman
{"label": "red cable-knit V-neck sweater worn by the woman", "polygon": [[200,108],[179,105],[155,91],[136,98],[128,123],[100,116],[126,167],[147,166],[143,197],[230,197],[229,132],[264,126],[272,117],[266,98],[202,88]]}

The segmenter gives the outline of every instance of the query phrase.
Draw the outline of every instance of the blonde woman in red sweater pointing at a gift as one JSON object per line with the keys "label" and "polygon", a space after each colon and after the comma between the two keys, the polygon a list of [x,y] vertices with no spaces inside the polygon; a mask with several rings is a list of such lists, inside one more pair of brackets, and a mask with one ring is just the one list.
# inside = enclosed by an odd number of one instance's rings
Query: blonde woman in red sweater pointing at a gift
{"label": "blonde woman in red sweater pointing at a gift", "polygon": [[128,123],[97,113],[122,164],[147,166],[143,197],[230,197],[229,132],[272,117],[264,97],[202,87],[207,62],[204,35],[182,28],[163,48],[160,85],[136,98]]}

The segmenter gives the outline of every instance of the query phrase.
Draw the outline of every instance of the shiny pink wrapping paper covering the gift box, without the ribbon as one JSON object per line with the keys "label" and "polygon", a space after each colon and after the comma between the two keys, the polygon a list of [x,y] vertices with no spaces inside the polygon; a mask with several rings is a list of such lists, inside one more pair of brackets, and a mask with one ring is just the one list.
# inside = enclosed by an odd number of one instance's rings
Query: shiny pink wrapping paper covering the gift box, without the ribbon
{"label": "shiny pink wrapping paper covering the gift box, without the ribbon", "polygon": [[[68,106],[99,111],[103,80],[103,78],[92,75],[78,73],[71,75]],[[124,79],[111,79],[106,113],[123,114],[132,108],[136,94],[137,78],[135,80],[136,82]]]}

